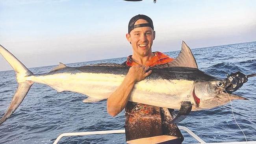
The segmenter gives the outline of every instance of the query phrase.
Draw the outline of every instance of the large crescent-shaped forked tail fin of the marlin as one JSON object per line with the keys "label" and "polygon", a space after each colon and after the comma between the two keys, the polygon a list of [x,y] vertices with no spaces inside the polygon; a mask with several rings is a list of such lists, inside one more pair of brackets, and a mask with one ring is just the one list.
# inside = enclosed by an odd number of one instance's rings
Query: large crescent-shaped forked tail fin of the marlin
{"label": "large crescent-shaped forked tail fin of the marlin", "polygon": [[0,45],[0,54],[6,59],[6,61],[11,65],[13,70],[16,72],[17,82],[19,84],[11,103],[6,110],[4,116],[0,119],[0,124],[6,121],[9,116],[19,107],[20,103],[23,101],[27,95],[30,87],[33,85],[32,81],[26,80],[26,76],[33,75],[26,66],[24,66],[13,54],[6,50],[3,46]]}

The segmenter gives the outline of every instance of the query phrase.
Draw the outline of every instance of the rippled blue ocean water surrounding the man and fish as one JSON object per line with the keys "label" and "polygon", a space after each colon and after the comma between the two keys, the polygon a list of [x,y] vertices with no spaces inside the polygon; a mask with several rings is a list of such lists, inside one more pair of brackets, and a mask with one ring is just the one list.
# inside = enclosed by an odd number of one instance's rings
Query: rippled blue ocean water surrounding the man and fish
{"label": "rippled blue ocean water surrounding the man and fish", "polygon": [[[256,73],[256,42],[192,49],[200,70],[214,76],[241,71]],[[176,57],[179,51],[167,52]],[[67,64],[83,66],[93,63],[122,63],[126,58]],[[26,65],[26,64],[25,64]],[[37,73],[49,72],[55,66],[30,68]],[[17,87],[14,71],[0,72],[0,116],[6,111]],[[233,101],[234,115],[247,140],[256,140],[256,77],[235,92],[249,101]],[[0,126],[1,144],[52,144],[64,132],[124,129],[124,111],[112,118],[106,111],[106,100],[83,103],[85,95],[61,92],[35,83],[15,113]],[[206,142],[245,141],[232,116],[230,103],[213,109],[196,111],[179,126],[185,126]],[[184,143],[196,143],[182,131]],[[65,137],[59,144],[125,144],[124,134]]]}

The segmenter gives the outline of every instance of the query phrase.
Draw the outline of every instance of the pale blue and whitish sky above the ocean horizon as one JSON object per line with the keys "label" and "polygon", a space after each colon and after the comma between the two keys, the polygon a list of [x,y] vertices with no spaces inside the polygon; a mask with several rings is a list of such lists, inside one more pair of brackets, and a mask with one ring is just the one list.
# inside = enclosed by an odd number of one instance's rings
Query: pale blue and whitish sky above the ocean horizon
{"label": "pale blue and whitish sky above the ocean horizon", "polygon": [[[255,0],[0,0],[0,44],[28,68],[126,57],[130,18],[152,18],[153,51],[256,41]],[[0,71],[12,68],[0,56]]]}

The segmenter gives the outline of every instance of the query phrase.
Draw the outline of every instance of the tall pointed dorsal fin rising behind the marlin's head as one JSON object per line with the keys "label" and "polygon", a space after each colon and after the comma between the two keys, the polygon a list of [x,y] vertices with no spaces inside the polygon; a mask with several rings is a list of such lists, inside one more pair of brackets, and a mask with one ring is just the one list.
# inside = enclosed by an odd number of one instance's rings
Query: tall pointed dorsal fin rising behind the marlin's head
{"label": "tall pointed dorsal fin rising behind the marlin's head", "polygon": [[178,55],[178,57],[176,57],[176,59],[168,63],[168,66],[198,68],[194,55],[192,54],[190,48],[187,46],[186,42],[184,41],[182,41],[180,54]]}

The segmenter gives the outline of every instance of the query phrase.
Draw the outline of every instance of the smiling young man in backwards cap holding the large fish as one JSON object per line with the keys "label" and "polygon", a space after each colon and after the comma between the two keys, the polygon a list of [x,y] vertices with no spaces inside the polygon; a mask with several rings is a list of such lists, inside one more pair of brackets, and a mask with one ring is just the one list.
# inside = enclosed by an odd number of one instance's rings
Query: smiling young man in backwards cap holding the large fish
{"label": "smiling young man in backwards cap holding the large fish", "polygon": [[107,102],[111,116],[125,108],[128,144],[180,144],[184,139],[176,124],[166,120],[162,108],[128,102],[135,83],[151,74],[151,70],[147,72],[150,67],[173,61],[173,58],[161,52],[152,52],[155,36],[153,22],[149,17],[136,15],[130,20],[126,39],[132,44],[133,53],[123,65],[131,67]]}

